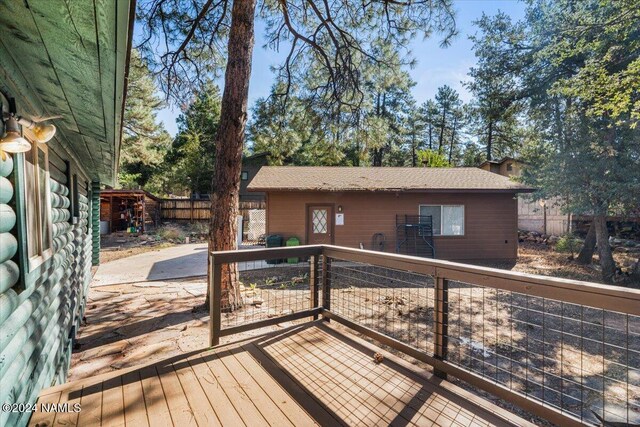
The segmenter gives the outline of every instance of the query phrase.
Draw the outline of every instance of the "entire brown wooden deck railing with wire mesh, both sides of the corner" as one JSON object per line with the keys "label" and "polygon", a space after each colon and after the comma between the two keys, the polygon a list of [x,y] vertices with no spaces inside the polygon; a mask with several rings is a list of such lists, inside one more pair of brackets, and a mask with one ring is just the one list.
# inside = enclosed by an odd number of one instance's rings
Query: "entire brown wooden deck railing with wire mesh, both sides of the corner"
{"label": "entire brown wooden deck railing with wire mesh, both sides of the corner", "polygon": [[328,245],[210,268],[211,345],[322,315],[553,423],[640,423],[638,290]]}

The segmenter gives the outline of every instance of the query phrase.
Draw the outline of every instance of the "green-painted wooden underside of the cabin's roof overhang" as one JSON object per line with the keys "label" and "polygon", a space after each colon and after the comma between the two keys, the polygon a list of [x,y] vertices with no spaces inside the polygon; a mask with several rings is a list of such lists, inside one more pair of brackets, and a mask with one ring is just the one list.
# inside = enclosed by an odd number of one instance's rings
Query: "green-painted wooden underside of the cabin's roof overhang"
{"label": "green-painted wooden underside of the cabin's roof overhang", "polygon": [[60,116],[49,145],[113,185],[135,0],[71,3],[0,1],[0,90],[20,116]]}

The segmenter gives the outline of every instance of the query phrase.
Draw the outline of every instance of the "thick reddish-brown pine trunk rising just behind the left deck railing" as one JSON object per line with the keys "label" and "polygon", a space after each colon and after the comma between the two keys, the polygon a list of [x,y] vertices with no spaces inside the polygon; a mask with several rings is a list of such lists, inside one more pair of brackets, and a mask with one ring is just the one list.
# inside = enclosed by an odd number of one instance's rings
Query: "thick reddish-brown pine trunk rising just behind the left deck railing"
{"label": "thick reddish-brown pine trunk rising just behind the left deck railing", "polygon": [[[211,199],[209,250],[237,249],[236,233],[240,201],[242,148],[247,124],[251,55],[254,44],[256,0],[237,0],[231,11],[227,69],[216,135],[216,162]],[[205,305],[209,304],[209,295]],[[226,311],[240,307],[237,265],[222,268],[222,301]]]}

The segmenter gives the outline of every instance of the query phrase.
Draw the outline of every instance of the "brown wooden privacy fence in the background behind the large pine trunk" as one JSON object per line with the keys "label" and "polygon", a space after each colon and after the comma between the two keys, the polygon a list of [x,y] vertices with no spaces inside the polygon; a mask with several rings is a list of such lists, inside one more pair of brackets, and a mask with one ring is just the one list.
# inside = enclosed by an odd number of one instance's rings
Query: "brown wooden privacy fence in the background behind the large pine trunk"
{"label": "brown wooden privacy fence in the background behind the large pine trunk", "polygon": [[[265,209],[264,201],[241,201],[239,215],[248,217],[252,209]],[[211,218],[211,201],[197,199],[161,199],[161,221],[208,221]]]}

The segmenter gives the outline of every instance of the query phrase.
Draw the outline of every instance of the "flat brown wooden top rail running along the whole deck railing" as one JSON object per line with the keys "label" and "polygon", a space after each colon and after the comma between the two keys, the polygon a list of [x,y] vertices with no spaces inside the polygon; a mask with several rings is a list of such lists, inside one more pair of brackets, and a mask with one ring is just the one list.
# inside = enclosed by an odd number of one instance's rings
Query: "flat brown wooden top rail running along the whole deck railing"
{"label": "flat brown wooden top rail running along the whole deck railing", "polygon": [[640,290],[332,245],[212,252],[215,264],[325,255],[640,316]]}

